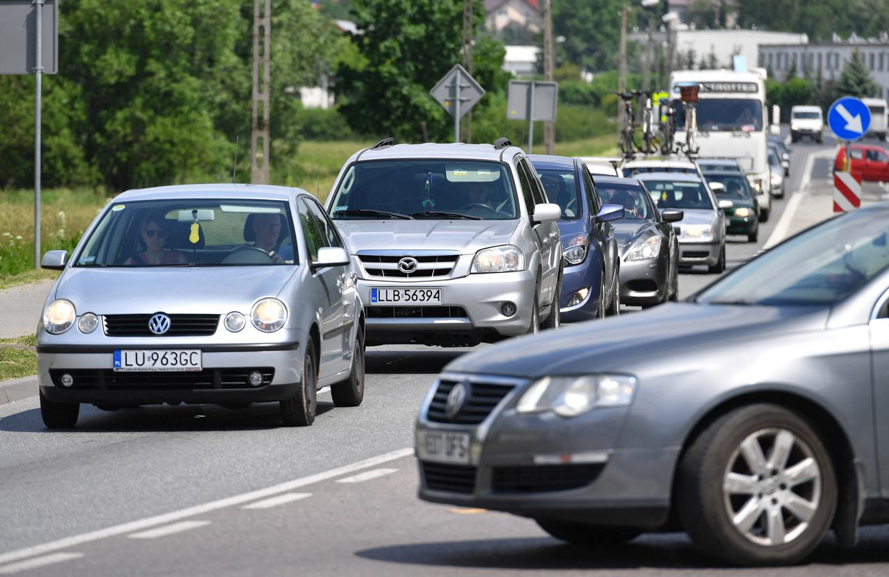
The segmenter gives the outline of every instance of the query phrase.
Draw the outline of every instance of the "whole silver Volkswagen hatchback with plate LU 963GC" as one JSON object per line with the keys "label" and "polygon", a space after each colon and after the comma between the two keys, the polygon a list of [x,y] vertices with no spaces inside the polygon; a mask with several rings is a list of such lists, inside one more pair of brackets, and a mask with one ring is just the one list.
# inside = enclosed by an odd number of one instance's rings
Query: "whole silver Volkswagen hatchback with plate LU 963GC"
{"label": "whole silver Volkswagen hatchback with plate LU 963GC", "polygon": [[276,401],[315,420],[316,392],[364,396],[364,309],[348,252],[304,190],[234,184],[130,190],[60,269],[37,325],[40,409],[81,403],[229,407]]}

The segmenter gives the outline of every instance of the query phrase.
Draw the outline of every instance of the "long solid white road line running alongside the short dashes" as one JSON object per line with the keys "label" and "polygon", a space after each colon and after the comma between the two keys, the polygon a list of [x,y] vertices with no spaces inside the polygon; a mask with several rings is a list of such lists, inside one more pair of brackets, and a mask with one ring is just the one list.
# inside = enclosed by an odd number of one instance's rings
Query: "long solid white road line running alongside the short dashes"
{"label": "long solid white road line running alongside the short dashes", "polygon": [[186,509],[164,513],[163,515],[156,515],[155,517],[146,517],[144,519],[131,521],[122,525],[114,525],[105,529],[99,529],[98,531],[91,531],[90,533],[81,533],[79,535],[74,535],[71,537],[64,537],[57,541],[49,541],[47,543],[42,543],[33,547],[17,549],[8,553],[0,554],[0,564],[11,563],[12,561],[18,561],[19,559],[25,559],[28,557],[36,557],[37,555],[44,555],[45,553],[58,551],[60,549],[76,547],[81,543],[99,541],[100,539],[107,539],[108,537],[114,537],[116,535],[121,535],[124,533],[141,531],[143,529],[148,529],[149,527],[156,527],[157,525],[165,525],[167,523],[179,521],[180,519],[184,519],[187,517],[204,515],[205,513],[208,513],[210,511],[234,507],[236,505],[241,505],[249,501],[256,501],[257,499],[270,497],[278,493],[286,493],[298,487],[312,485],[314,483],[326,481],[327,479],[331,479],[334,477],[340,477],[342,475],[346,475],[347,473],[352,473],[357,470],[367,469],[369,467],[376,467],[377,465],[380,465],[382,463],[395,461],[396,459],[401,459],[412,454],[413,447],[406,447],[404,449],[398,449],[397,451],[391,451],[389,453],[377,455],[376,457],[364,459],[364,461],[356,461],[354,463],[344,465],[336,469],[330,469],[321,473],[316,473],[315,475],[309,475],[308,477],[300,477],[297,479],[293,479],[292,481],[286,481],[279,485],[272,485],[270,487],[266,487],[265,489],[259,489],[250,493],[242,493],[239,495],[234,495],[232,497],[227,497],[225,499],[220,499],[219,501],[212,501],[209,503],[204,503],[203,505],[196,505],[194,507],[188,507]]}

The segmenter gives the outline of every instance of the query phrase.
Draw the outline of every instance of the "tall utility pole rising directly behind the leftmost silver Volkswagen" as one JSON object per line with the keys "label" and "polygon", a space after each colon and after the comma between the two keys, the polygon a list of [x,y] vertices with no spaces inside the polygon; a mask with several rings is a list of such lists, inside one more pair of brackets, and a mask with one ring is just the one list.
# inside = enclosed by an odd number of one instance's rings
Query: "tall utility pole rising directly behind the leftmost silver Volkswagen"
{"label": "tall utility pole rising directly behind the leftmost silver Volkswagen", "polygon": [[[260,11],[260,4],[265,10]],[[261,36],[261,37],[260,37]],[[260,51],[260,41],[262,50]],[[253,112],[250,181],[268,184],[268,108],[271,104],[272,0],[253,0]],[[260,85],[260,68],[262,84]],[[261,118],[260,118],[261,116]]]}

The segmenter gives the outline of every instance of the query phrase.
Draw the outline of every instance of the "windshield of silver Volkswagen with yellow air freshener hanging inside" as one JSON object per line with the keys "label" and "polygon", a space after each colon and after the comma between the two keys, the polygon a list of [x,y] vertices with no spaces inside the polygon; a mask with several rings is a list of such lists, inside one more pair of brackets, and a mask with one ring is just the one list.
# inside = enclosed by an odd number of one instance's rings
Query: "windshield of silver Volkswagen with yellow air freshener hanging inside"
{"label": "windshield of silver Volkswagen with yellow air freshener hanging inside", "polygon": [[112,205],[75,267],[282,265],[297,261],[288,204],[252,199]]}

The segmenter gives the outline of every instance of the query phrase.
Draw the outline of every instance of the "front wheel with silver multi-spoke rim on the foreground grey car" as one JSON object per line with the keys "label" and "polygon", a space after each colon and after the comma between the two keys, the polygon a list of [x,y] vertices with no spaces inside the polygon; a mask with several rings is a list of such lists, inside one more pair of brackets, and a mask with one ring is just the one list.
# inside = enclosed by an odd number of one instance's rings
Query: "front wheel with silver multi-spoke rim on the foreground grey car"
{"label": "front wheel with silver multi-spoke rim on the foreground grey car", "polygon": [[717,419],[679,465],[677,508],[710,555],[737,565],[789,565],[818,546],[837,509],[833,463],[821,438],[777,405]]}

